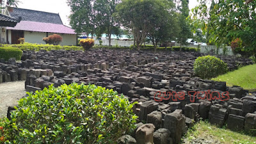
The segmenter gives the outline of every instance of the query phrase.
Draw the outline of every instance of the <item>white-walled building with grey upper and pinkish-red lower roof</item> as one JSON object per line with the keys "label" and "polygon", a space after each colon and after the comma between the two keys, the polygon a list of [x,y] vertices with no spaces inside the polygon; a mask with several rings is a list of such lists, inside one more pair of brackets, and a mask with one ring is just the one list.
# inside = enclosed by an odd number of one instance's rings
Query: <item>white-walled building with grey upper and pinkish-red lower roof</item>
{"label": "white-walled building with grey upper and pinkish-red lower roof", "polygon": [[25,38],[25,42],[33,44],[45,44],[42,39],[56,33],[63,38],[60,45],[77,45],[74,29],[64,26],[58,13],[22,8],[6,8],[5,13],[15,19],[21,17],[15,27],[6,28],[7,44],[19,44],[19,38]]}

